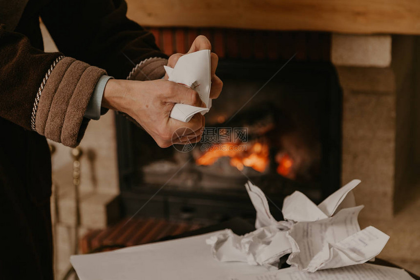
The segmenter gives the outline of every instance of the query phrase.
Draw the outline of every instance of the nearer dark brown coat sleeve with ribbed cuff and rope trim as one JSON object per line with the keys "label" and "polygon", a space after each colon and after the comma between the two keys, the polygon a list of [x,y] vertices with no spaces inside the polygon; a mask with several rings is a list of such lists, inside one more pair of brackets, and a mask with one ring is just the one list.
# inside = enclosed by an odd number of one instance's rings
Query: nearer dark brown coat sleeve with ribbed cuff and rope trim
{"label": "nearer dark brown coat sleeve with ribbed cuff and rope trim", "polygon": [[0,25],[1,118],[74,147],[86,128],[87,103],[104,74],[61,53],[44,53]]}

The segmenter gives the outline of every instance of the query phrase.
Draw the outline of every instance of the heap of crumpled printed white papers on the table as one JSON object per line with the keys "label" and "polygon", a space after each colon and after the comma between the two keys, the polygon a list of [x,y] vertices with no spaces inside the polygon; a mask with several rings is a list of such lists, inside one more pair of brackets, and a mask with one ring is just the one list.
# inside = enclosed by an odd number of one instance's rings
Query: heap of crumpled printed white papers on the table
{"label": "heap of crumpled printed white papers on the table", "polygon": [[284,221],[270,213],[264,193],[250,181],[245,185],[256,210],[255,231],[238,236],[231,230],[212,236],[214,258],[242,261],[273,268],[280,257],[291,253],[287,263],[302,271],[335,268],[366,262],[382,251],[389,236],[375,227],[360,230],[352,180],[319,205],[301,192],[285,198]]}

